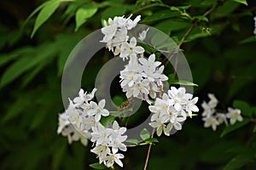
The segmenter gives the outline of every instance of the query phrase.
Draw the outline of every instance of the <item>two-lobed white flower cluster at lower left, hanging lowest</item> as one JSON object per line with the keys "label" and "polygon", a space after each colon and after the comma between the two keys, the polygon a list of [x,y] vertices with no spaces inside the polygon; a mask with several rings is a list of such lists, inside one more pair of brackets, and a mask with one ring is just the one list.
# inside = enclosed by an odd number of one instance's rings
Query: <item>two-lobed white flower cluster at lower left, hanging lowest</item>
{"label": "two-lobed white flower cluster at lower left, hanging lowest", "polygon": [[[127,138],[124,133],[125,127],[119,127],[118,122],[113,122],[112,128],[103,127],[100,122],[102,116],[108,116],[109,111],[104,109],[105,99],[97,104],[91,99],[94,98],[96,88],[91,94],[84,93],[83,89],[79,91],[79,97],[69,99],[67,110],[59,115],[59,127],[57,133],[68,137],[68,142],[81,140],[82,144],[87,145],[88,139],[96,146],[91,152],[95,153],[107,167],[113,166],[116,162],[123,166],[119,159],[124,158],[118,151],[126,150],[123,142]],[[110,150],[111,149],[111,150]]]}

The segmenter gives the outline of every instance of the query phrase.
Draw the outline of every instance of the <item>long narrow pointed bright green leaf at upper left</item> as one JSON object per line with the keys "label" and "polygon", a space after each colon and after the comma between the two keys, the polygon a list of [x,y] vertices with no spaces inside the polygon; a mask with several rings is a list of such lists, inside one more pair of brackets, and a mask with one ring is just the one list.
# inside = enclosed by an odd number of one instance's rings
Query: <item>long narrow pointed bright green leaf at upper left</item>
{"label": "long narrow pointed bright green leaf at upper left", "polygon": [[54,14],[55,10],[59,7],[61,1],[57,0],[57,1],[49,1],[49,3],[47,3],[44,8],[42,8],[42,10],[40,11],[40,13],[38,14],[38,17],[36,19],[36,23],[35,26],[33,28],[31,37],[34,36],[34,34],[36,33],[36,31],[38,30],[38,28],[40,26],[42,26],[44,24],[44,22],[46,20],[49,19],[49,17]]}

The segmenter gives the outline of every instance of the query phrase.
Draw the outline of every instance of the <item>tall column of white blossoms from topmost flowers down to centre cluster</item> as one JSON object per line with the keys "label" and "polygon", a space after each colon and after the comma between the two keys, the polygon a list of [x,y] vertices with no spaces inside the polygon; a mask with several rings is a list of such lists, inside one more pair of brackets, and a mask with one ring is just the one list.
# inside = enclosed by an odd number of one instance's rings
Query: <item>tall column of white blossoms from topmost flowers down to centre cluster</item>
{"label": "tall column of white blossoms from topmost flowers down to centre cluster", "polygon": [[[144,48],[137,46],[137,39],[127,36],[128,30],[137,26],[140,16],[135,20],[124,17],[114,17],[113,20],[105,21],[105,27],[102,33],[105,35],[102,42],[106,42],[106,47],[113,51],[114,55],[119,55],[123,60],[129,59],[129,64],[125,65],[125,69],[120,71],[121,88],[126,93],[127,98],[135,97],[137,99],[146,100],[151,103],[148,95],[155,99],[156,92],[160,92],[162,81],[166,81],[166,77],[162,72],[164,66],[160,66],[159,61],[155,61],[155,55],[151,54],[148,59],[143,58]],[[139,39],[143,41],[146,37],[148,29],[139,34]],[[138,58],[138,55],[141,57]],[[159,67],[160,66],[160,67]]]}

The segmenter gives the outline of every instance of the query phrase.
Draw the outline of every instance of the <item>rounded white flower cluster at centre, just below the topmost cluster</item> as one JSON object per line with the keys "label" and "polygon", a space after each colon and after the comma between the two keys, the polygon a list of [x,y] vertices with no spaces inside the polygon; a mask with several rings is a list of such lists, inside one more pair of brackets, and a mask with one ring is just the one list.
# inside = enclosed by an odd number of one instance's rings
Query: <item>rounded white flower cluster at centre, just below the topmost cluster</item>
{"label": "rounded white flower cluster at centre, just below the topmost cluster", "polygon": [[154,61],[155,55],[151,54],[148,59],[132,59],[125,66],[125,70],[120,71],[121,88],[126,92],[126,97],[135,97],[137,99],[146,100],[151,104],[148,95],[155,99],[156,92],[160,92],[162,81],[166,81],[168,77],[162,74],[164,65],[159,61]]}

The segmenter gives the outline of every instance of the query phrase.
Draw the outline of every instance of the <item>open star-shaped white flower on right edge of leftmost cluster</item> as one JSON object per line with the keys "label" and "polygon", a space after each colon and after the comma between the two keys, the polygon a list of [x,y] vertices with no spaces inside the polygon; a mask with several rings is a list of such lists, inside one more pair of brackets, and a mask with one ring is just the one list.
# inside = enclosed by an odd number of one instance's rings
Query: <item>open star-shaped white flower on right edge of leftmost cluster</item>
{"label": "open star-shaped white flower on right edge of leftmost cluster", "polygon": [[107,109],[104,109],[105,99],[102,99],[98,105],[96,104],[96,102],[90,101],[90,105],[92,108],[87,113],[90,116],[95,116],[96,122],[99,122],[102,116],[109,115],[109,111]]}

